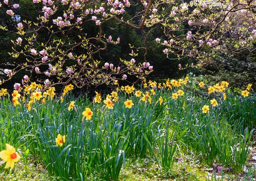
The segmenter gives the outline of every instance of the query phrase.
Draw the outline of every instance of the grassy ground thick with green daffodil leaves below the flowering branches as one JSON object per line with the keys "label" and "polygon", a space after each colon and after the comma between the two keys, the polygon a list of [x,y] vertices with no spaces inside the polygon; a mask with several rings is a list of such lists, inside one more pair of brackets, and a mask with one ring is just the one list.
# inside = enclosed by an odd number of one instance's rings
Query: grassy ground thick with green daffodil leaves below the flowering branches
{"label": "grassy ground thick with green daffodil leaves below the flowering branches", "polygon": [[[0,180],[253,181],[255,94],[241,96],[225,82],[208,94],[200,81],[120,87],[96,93],[94,102],[67,93],[60,99],[53,88],[38,99],[27,87],[17,99],[2,96],[0,150],[11,144],[21,159],[12,171],[0,166]],[[227,169],[214,170],[214,162]]]}

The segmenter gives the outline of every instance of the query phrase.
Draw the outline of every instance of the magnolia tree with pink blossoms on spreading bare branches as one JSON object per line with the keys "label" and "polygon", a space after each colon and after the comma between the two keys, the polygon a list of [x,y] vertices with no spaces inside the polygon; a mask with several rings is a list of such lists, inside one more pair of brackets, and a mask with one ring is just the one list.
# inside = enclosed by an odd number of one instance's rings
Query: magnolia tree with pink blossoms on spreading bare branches
{"label": "magnolia tree with pink blossoms on spreading bare branches", "polygon": [[[156,24],[161,26],[165,36],[157,37],[155,41],[163,45],[163,54],[167,57],[170,54],[177,55],[177,59],[195,57],[200,60],[198,65],[203,65],[218,51],[232,54],[246,50],[250,54],[255,50],[254,0],[191,0],[189,3],[178,0],[32,1],[41,9],[35,12],[38,21],[18,22],[17,30],[12,33],[19,37],[10,40],[13,44],[10,55],[15,58],[22,55],[26,63],[14,70],[5,69],[6,80],[22,69],[29,71],[30,76],[33,71],[45,74],[46,78],[38,79],[38,82],[44,82],[46,86],[67,85],[70,82],[77,87],[116,84],[117,80],[125,80],[129,75],[144,79],[153,70],[145,55],[148,50],[148,33]],[[4,0],[0,6],[7,9],[9,16],[15,16],[18,8],[26,8],[9,0]],[[124,14],[128,8],[135,6],[141,10],[133,18],[125,19]],[[61,16],[55,15],[60,12],[63,12]],[[111,60],[104,63],[100,61],[101,52],[110,43],[118,44],[122,41],[120,38],[113,40],[111,34],[104,33],[104,28],[115,28],[109,27],[111,21],[143,33],[144,63],[136,63],[136,45],[131,46],[130,60],[120,59],[118,65],[113,65]],[[95,36],[89,36],[83,28],[92,23],[98,26]],[[0,28],[9,31],[5,26]],[[42,32],[46,34],[44,41],[38,41]],[[74,35],[77,40],[75,42]],[[205,53],[206,48],[211,48],[211,51]],[[24,75],[22,83],[26,84],[30,76]]]}

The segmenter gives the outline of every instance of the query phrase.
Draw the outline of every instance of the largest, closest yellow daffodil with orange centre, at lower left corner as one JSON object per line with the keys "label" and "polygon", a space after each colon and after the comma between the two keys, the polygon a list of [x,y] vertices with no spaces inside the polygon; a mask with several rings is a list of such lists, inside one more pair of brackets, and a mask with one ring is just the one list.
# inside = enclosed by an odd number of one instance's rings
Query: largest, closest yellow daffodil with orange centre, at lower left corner
{"label": "largest, closest yellow daffodil with orange centre, at lower left corner", "polygon": [[20,156],[16,153],[15,148],[9,144],[6,144],[6,150],[0,152],[0,158],[6,162],[4,168],[11,167],[11,169],[13,169],[14,163],[20,160]]}

